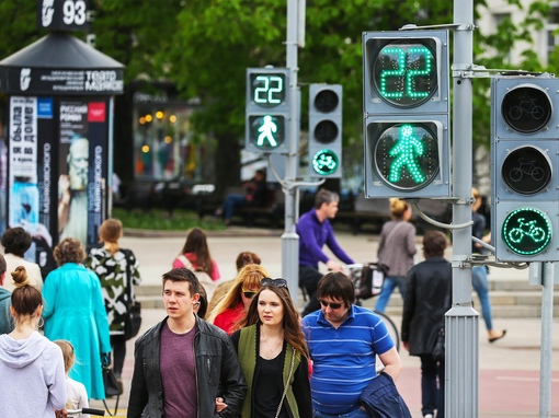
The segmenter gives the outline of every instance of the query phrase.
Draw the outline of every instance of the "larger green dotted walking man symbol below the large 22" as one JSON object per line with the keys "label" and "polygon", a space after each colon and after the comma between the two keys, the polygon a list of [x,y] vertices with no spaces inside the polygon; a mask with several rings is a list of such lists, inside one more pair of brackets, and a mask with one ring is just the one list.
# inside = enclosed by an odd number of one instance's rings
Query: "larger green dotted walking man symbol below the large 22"
{"label": "larger green dotted walking man symbol below the large 22", "polygon": [[423,142],[413,135],[411,125],[400,127],[399,138],[396,146],[388,153],[390,156],[396,156],[396,160],[390,164],[388,179],[392,183],[399,182],[403,169],[407,169],[415,183],[423,183],[425,176],[421,172],[417,160],[425,151]]}

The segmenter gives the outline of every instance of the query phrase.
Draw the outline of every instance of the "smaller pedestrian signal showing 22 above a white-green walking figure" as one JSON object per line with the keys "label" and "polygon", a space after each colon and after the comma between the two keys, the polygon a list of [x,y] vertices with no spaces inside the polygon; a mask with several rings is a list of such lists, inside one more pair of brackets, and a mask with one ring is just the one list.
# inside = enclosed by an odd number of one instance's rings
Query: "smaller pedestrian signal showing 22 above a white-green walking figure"
{"label": "smaller pedestrian signal showing 22 above a white-green walking figure", "polygon": [[289,70],[247,69],[246,149],[252,152],[288,151]]}

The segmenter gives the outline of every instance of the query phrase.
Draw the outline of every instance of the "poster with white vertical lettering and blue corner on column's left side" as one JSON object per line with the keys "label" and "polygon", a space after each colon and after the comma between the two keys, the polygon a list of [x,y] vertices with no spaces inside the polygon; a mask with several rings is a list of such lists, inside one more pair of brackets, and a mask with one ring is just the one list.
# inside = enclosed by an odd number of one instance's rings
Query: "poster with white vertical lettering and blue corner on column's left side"
{"label": "poster with white vertical lettering and blue corner on column's left side", "polygon": [[53,259],[52,154],[54,153],[52,97],[10,98],[8,141],[8,225],[22,227],[32,236],[25,259],[37,263],[43,277]]}

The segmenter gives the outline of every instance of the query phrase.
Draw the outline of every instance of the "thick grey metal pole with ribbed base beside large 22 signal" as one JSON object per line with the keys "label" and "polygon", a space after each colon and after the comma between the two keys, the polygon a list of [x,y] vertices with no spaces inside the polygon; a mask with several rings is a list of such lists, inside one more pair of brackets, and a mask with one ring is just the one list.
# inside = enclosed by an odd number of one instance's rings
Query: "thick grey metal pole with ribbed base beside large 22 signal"
{"label": "thick grey metal pole with ribbed base beside large 22 signal", "polygon": [[[474,1],[454,1],[453,223],[471,220]],[[445,314],[445,416],[478,417],[479,314],[471,300],[471,227],[453,230],[453,307]]]}

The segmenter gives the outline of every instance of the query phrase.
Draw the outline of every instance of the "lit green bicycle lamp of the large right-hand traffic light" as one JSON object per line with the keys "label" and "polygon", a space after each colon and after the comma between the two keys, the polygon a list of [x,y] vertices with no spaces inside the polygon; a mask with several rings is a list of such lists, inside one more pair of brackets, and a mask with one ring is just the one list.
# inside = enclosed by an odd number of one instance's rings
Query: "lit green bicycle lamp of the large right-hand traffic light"
{"label": "lit green bicycle lamp of the large right-hand traffic light", "polygon": [[502,237],[509,249],[520,255],[536,255],[545,251],[552,237],[549,218],[535,208],[513,210],[504,219]]}

